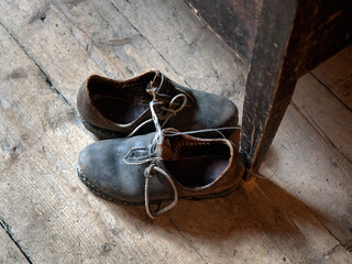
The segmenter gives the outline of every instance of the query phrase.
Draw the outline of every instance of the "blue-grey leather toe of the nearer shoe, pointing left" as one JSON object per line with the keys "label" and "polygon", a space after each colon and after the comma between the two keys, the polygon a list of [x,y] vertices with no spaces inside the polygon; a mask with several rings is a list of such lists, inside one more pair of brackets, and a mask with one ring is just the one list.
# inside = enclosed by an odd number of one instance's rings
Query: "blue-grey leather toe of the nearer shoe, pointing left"
{"label": "blue-grey leather toe of the nearer shoe, pointing left", "polygon": [[88,145],[78,157],[79,177],[99,196],[138,204],[143,200],[143,182],[136,179],[140,173],[134,169],[138,169],[138,166],[124,163],[121,146],[123,144],[119,140],[106,140]]}

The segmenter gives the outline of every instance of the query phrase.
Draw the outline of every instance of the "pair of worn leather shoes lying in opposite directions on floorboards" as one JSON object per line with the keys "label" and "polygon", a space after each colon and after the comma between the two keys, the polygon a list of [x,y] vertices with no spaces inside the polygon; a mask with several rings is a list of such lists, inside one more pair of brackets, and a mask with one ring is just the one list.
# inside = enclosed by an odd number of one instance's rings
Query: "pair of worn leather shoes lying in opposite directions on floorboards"
{"label": "pair of worn leather shoes lying in opposite directions on floorboards", "polygon": [[[213,136],[218,128],[237,125],[237,107],[157,70],[124,81],[90,76],[79,89],[77,109],[84,125],[105,139],[81,151],[80,179],[109,200],[145,204],[151,218],[169,210],[178,198],[224,196],[244,172],[231,141],[189,134],[207,131]],[[168,206],[151,210],[152,204],[166,200]]]}

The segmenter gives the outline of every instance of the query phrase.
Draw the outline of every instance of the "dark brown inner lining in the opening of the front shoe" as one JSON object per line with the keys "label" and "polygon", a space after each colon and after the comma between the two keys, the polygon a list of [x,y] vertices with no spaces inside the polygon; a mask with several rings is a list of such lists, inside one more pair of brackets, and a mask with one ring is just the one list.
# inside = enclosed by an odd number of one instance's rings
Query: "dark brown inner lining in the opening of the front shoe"
{"label": "dark brown inner lining in the opening of the front shoe", "polygon": [[230,148],[219,142],[170,140],[173,156],[164,164],[173,177],[186,187],[213,183],[228,167]]}

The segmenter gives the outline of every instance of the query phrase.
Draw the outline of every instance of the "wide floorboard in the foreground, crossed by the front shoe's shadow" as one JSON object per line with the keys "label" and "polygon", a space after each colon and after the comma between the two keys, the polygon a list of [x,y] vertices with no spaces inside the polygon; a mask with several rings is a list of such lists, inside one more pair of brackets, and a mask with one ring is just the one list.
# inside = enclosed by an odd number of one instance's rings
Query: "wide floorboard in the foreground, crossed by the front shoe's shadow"
{"label": "wide floorboard in the foreground, crossed by the front shoe's shadow", "polygon": [[[339,244],[300,202],[284,194],[273,201],[255,183],[224,199],[180,201],[154,222],[144,208],[91,195],[75,175],[75,158],[91,138],[40,69],[1,33],[13,52],[2,57],[11,64],[1,76],[7,202],[0,212],[34,262],[216,263],[221,256],[223,263],[309,263],[324,261]],[[13,78],[20,66],[28,75]],[[22,85],[28,89],[19,89]],[[349,260],[345,251],[338,257]]]}

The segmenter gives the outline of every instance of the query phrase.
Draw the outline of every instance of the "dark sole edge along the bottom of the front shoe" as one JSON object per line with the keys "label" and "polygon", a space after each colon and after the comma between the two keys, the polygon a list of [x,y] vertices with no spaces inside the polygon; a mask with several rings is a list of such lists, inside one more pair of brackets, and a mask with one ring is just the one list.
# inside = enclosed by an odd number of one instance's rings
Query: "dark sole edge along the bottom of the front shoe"
{"label": "dark sole edge along the bottom of the front shoe", "polygon": [[[129,206],[142,206],[144,205],[144,201],[141,202],[131,202],[131,201],[124,201],[124,200],[120,200],[117,199],[116,197],[101,191],[97,186],[95,186],[88,178],[87,176],[81,172],[80,167],[77,166],[77,173],[78,173],[78,177],[79,179],[97,196],[105,198],[107,200],[113,201],[113,202],[118,202],[118,204],[122,204],[122,205],[129,205]],[[240,178],[241,179],[241,178]],[[231,187],[230,189],[227,189],[221,193],[216,193],[216,194],[209,194],[209,195],[201,195],[201,196],[183,196],[183,197],[178,197],[178,199],[187,199],[187,200],[205,200],[205,199],[211,199],[211,198],[220,198],[220,197],[224,197],[229,194],[231,194],[233,190],[235,190],[239,186],[241,185],[241,180],[239,180],[233,187]],[[168,201],[167,199],[165,200],[155,200],[155,201],[151,201],[152,205],[154,204],[161,204],[164,201]]]}

